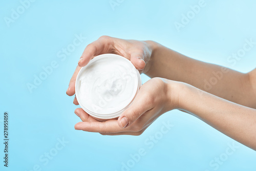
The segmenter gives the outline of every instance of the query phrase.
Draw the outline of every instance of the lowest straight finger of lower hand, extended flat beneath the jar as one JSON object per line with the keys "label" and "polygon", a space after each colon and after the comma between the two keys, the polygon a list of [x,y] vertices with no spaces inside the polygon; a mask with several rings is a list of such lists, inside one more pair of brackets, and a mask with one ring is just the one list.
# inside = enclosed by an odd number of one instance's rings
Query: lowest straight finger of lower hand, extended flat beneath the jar
{"label": "lowest straight finger of lower hand, extended flat beneath the jar", "polygon": [[104,122],[78,122],[75,124],[75,129],[105,134],[132,131],[129,129],[121,129],[117,123],[117,119],[111,119]]}

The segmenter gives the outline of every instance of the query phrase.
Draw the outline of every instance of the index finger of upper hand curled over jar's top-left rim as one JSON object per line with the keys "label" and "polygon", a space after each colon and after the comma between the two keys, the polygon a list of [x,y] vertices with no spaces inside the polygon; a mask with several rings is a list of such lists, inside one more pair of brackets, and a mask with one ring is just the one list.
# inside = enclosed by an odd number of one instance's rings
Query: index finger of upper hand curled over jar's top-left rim
{"label": "index finger of upper hand curled over jar's top-left rim", "polygon": [[113,37],[101,36],[96,41],[89,44],[86,49],[84,49],[78,65],[84,67],[88,62],[95,56],[103,53],[111,53],[113,48]]}

